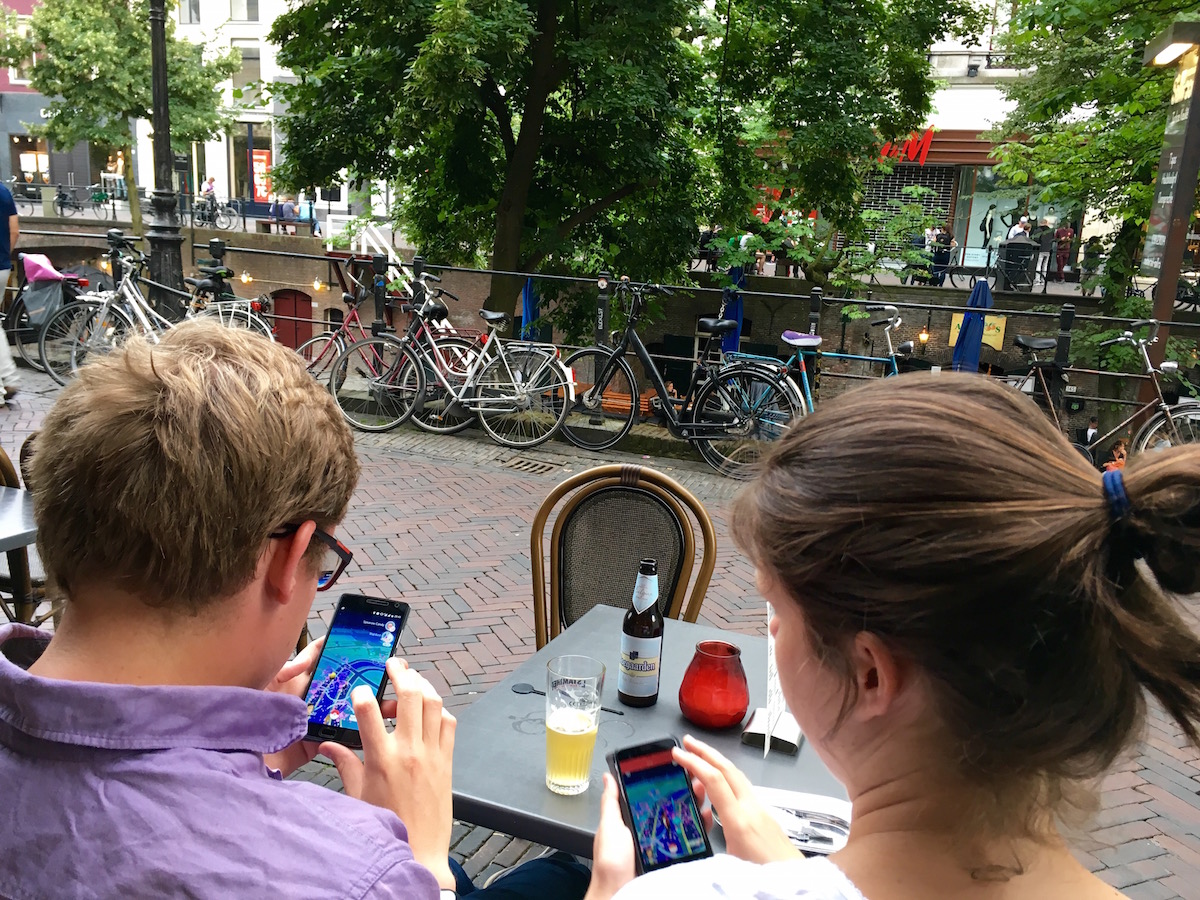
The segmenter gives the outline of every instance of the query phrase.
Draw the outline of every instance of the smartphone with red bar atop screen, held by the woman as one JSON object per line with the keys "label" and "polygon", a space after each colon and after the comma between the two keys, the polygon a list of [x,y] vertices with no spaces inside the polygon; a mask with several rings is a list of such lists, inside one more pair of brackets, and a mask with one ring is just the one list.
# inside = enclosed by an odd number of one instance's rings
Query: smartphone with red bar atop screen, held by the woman
{"label": "smartphone with red bar atop screen, held by the woman", "polygon": [[608,754],[620,806],[637,845],[637,871],[713,856],[688,770],[671,757],[674,738]]}

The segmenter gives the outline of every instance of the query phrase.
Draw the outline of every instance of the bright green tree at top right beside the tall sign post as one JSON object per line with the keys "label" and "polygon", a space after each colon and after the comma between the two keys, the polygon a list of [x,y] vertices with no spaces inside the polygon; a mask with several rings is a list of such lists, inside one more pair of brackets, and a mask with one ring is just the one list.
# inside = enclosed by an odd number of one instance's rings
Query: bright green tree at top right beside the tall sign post
{"label": "bright green tree at top right beside the tall sign post", "polygon": [[[1174,67],[1141,62],[1146,43],[1195,2],[1018,0],[1003,40],[1026,70],[1004,84],[1016,106],[996,130],[1002,174],[1030,181],[1042,203],[1074,200],[1117,226],[1100,278],[1124,295],[1150,215]],[[1106,304],[1106,312],[1118,314]]]}

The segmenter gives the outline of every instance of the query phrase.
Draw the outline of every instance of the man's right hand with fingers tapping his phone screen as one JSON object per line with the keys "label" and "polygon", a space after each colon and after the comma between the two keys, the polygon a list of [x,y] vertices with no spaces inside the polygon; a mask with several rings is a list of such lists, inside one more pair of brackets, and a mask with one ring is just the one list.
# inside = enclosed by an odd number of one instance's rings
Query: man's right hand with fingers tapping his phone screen
{"label": "man's right hand with fingers tapping his phone screen", "polygon": [[433,872],[438,884],[454,889],[446,859],[454,826],[450,772],[457,722],[442,697],[403,660],[388,660],[396,689],[396,727],[389,733],[370,688],[350,694],[362,737],[362,761],[349,748],[325,743],[320,752],[337,766],[346,793],[390,809],[408,829],[413,857]]}

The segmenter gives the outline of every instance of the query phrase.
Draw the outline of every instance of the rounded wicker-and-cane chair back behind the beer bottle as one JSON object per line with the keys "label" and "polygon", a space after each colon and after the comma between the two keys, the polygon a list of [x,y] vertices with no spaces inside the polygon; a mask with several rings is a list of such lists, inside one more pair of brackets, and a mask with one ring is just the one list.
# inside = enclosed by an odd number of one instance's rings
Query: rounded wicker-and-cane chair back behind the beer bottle
{"label": "rounded wicker-and-cane chair back behind the beer bottle", "polygon": [[[545,530],[560,502],[548,542],[547,601]],[[695,529],[702,546],[692,580]],[[628,607],[644,557],[659,563],[662,614],[695,622],[716,565],[716,532],[691,492],[661,472],[620,464],[581,472],[551,491],[529,535],[539,649],[594,606]]]}

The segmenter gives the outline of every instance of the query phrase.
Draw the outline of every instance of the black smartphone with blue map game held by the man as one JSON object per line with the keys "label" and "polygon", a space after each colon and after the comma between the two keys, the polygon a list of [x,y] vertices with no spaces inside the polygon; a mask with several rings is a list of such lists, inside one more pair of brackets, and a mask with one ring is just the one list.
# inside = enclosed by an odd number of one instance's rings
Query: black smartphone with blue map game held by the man
{"label": "black smartphone with blue map game held by the man", "polygon": [[406,622],[406,602],[342,594],[305,692],[310,740],[362,746],[350,691],[365,684],[374,691],[376,701],[383,700],[388,680],[384,665],[396,653]]}

